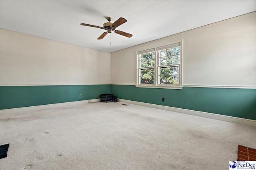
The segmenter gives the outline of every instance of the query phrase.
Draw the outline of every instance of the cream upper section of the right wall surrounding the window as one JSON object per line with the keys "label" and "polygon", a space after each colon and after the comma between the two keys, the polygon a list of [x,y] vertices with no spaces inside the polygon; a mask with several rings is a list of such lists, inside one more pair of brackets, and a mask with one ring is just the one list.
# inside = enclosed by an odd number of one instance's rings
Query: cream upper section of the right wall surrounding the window
{"label": "cream upper section of the right wall surrounding the window", "polygon": [[113,52],[111,83],[136,84],[136,51],[179,39],[184,86],[256,87],[256,12]]}

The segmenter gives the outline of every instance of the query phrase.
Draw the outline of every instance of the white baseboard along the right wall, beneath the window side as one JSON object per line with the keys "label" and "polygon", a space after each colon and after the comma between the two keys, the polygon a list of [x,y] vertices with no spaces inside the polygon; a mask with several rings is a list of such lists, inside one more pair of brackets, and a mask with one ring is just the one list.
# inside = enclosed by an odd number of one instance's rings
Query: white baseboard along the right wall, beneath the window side
{"label": "white baseboard along the right wall, beneath the window side", "polygon": [[219,114],[207,113],[207,112],[203,112],[203,111],[181,109],[181,108],[170,107],[170,106],[161,106],[161,105],[157,105],[157,104],[136,102],[136,101],[132,101],[132,100],[119,99],[119,101],[124,102],[124,103],[128,103],[128,104],[135,104],[135,105],[140,105],[140,106],[152,107],[152,108],[155,108],[155,109],[162,109],[162,110],[167,110],[167,111],[173,111],[173,112],[184,113],[184,114],[188,114],[188,115],[206,117],[206,118],[210,118],[210,119],[216,119],[216,120],[227,121],[227,122],[231,122],[231,123],[238,123],[238,124],[241,124],[241,125],[256,127],[256,121],[251,120],[251,119],[244,119],[244,118],[240,118],[240,117],[219,115]]}

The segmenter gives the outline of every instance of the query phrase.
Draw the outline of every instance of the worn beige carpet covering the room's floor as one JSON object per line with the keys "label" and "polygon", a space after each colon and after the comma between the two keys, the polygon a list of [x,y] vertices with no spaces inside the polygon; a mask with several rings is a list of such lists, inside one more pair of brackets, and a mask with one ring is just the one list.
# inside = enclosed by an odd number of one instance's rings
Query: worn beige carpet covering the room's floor
{"label": "worn beige carpet covering the room's floor", "polygon": [[1,170],[224,170],[256,128],[123,103],[0,115]]}

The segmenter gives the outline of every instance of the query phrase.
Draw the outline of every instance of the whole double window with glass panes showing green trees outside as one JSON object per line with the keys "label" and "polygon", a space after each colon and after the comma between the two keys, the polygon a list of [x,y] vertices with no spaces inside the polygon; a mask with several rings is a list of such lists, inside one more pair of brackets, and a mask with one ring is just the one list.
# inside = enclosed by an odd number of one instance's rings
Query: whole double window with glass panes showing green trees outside
{"label": "whole double window with glass panes showing green trees outside", "polygon": [[182,41],[138,51],[137,86],[182,89]]}

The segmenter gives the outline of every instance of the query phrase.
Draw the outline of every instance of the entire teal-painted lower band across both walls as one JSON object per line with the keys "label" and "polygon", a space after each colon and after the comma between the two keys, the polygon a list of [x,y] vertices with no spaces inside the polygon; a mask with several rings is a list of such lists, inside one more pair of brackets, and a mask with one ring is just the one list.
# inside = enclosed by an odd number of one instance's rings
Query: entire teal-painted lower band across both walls
{"label": "entire teal-painted lower band across both walls", "polygon": [[[0,86],[0,109],[39,106],[100,98],[118,98],[256,120],[256,89],[136,88],[132,85]],[[82,94],[82,98],[79,98]],[[165,101],[162,102],[162,98]]]}

